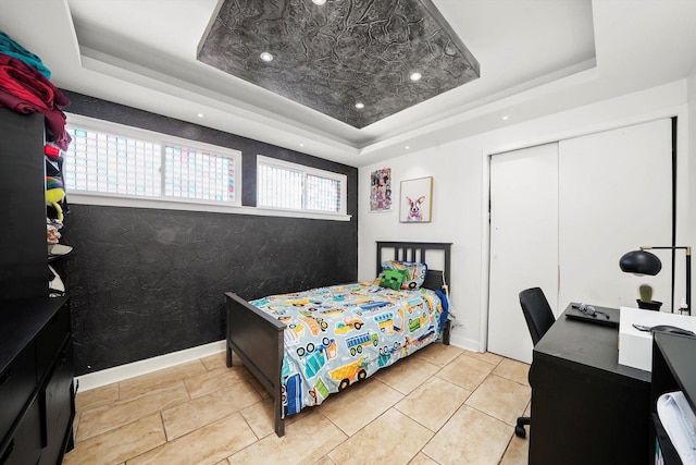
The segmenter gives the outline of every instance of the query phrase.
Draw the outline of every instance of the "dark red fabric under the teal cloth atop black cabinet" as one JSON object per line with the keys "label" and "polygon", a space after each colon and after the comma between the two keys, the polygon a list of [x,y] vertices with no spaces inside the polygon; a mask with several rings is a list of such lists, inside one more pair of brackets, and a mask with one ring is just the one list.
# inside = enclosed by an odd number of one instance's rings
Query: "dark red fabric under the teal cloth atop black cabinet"
{"label": "dark red fabric under the teal cloth atop black cabinet", "polygon": [[61,111],[66,105],[70,100],[35,68],[0,53],[0,107],[20,113],[42,113],[49,129],[48,140],[63,150],[71,140],[65,132],[65,113]]}

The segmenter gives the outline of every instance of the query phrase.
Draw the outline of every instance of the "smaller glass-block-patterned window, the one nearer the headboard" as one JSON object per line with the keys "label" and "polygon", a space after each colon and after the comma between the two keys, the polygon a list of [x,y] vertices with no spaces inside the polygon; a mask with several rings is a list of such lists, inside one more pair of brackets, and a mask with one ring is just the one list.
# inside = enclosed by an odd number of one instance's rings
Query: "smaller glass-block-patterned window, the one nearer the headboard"
{"label": "smaller glass-block-patterned window, the one nearer the headboard", "polygon": [[263,156],[257,158],[257,206],[346,213],[345,174]]}

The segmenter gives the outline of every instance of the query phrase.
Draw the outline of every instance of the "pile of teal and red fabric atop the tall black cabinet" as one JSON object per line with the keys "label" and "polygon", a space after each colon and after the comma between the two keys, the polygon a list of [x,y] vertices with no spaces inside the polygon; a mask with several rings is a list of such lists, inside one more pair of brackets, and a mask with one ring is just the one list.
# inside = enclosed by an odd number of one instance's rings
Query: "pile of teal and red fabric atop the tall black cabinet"
{"label": "pile of teal and red fabric atop the tall black cabinet", "polygon": [[20,113],[42,113],[47,140],[66,150],[71,137],[62,108],[70,100],[51,84],[50,77],[51,72],[39,57],[0,32],[0,107]]}

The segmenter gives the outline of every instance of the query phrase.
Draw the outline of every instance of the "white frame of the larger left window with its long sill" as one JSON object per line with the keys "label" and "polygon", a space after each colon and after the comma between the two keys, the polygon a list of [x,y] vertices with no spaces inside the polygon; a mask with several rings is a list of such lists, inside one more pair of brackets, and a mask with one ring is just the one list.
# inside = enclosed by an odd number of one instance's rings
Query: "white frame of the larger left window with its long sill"
{"label": "white frame of the larger left window with its long sill", "polygon": [[[206,201],[201,199],[174,199],[171,197],[156,198],[156,197],[139,197],[128,196],[122,194],[104,194],[104,193],[85,193],[67,191],[66,200],[74,205],[95,205],[107,207],[129,207],[129,208],[152,208],[160,210],[184,210],[184,211],[204,211],[213,213],[232,213],[232,215],[251,215],[260,217],[282,217],[282,218],[304,218],[316,220],[330,220],[330,221],[350,221],[352,218],[350,215],[339,213],[326,213],[326,212],[313,212],[313,211],[293,211],[293,210],[278,210],[268,208],[256,208],[241,206],[241,151],[229,149],[226,147],[214,146],[211,144],[199,143],[197,140],[189,140],[182,137],[171,136],[167,134],[161,134],[153,131],[142,130],[139,127],[127,126],[120,123],[113,123],[110,121],[98,120],[79,114],[65,113],[67,124],[80,126],[86,130],[103,131],[109,133],[117,132],[123,136],[130,136],[145,140],[160,140],[161,144],[173,144],[192,149],[202,149],[213,151],[221,155],[233,155],[235,157],[235,173],[238,173],[235,179],[235,203],[222,204],[214,201]],[[268,158],[268,157],[266,157]],[[274,160],[270,158],[271,160]],[[343,201],[343,199],[341,199]],[[344,204],[345,205],[345,204]]]}

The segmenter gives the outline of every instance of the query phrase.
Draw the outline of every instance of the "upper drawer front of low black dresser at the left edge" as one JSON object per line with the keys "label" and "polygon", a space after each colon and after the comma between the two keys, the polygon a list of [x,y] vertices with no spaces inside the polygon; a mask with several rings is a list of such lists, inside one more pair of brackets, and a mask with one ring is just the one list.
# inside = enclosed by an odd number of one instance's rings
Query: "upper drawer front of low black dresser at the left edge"
{"label": "upper drawer front of low black dresser at the left edge", "polygon": [[0,374],[0,440],[8,435],[36,387],[35,354],[32,342]]}

